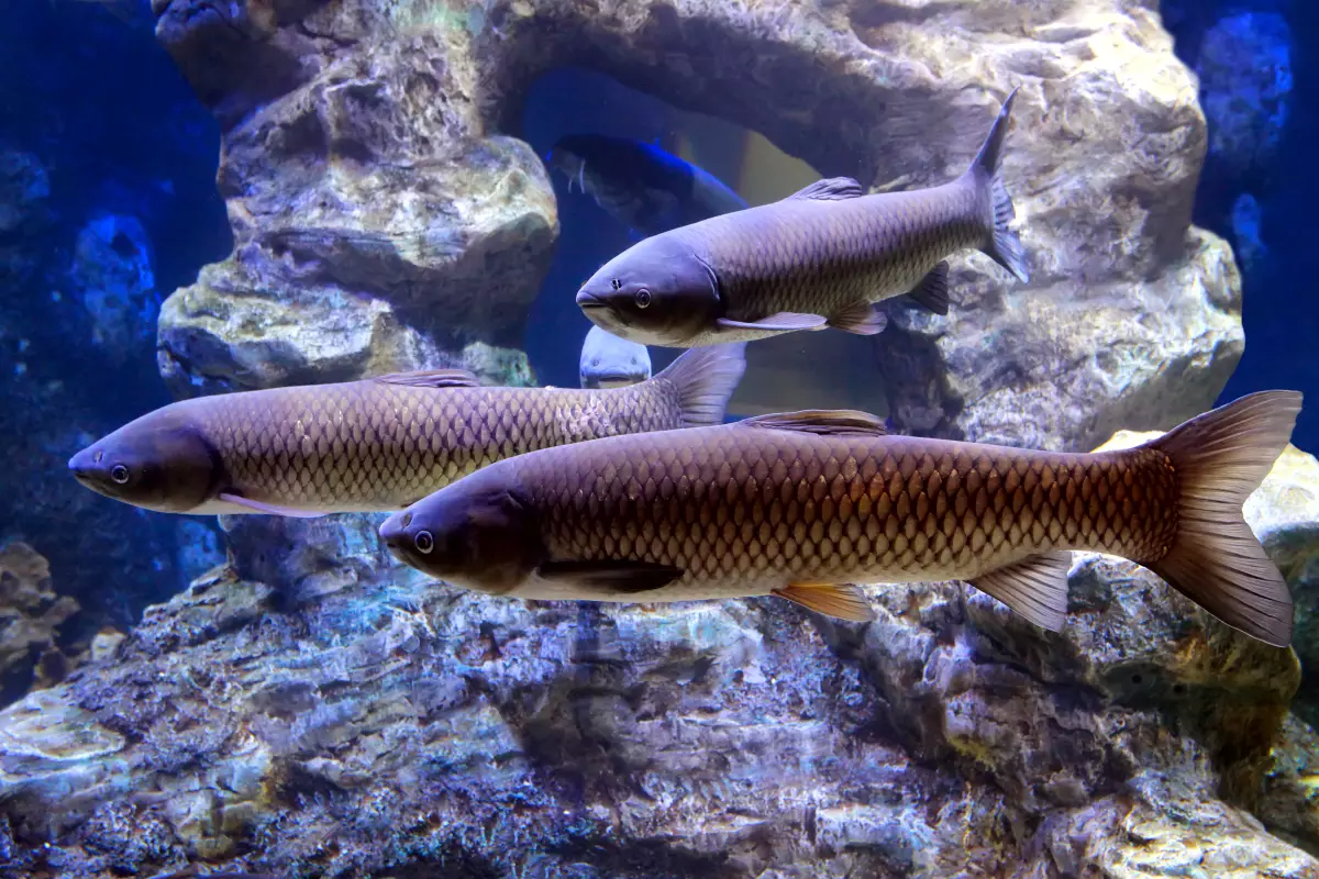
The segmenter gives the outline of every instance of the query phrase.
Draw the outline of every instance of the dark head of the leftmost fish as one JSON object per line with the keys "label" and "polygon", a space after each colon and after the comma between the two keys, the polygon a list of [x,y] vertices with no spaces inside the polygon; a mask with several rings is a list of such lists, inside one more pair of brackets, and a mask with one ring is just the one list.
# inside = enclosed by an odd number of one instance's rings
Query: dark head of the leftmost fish
{"label": "dark head of the leftmost fish", "polygon": [[218,492],[223,467],[206,438],[166,406],[78,452],[69,470],[108,498],[157,513],[189,513]]}

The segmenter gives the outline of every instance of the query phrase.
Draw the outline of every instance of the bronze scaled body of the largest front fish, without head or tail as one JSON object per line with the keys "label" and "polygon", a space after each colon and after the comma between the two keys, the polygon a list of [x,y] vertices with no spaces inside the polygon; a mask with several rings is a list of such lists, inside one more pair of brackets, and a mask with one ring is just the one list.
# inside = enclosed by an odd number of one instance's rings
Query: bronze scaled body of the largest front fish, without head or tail
{"label": "bronze scaled body of the largest front fish, without head or tail", "polygon": [[550,559],[682,568],[646,593],[654,601],[765,594],[795,577],[975,579],[1062,547],[1142,563],[1167,552],[1177,481],[1166,455],[975,448],[703,428],[504,467],[543,513]]}

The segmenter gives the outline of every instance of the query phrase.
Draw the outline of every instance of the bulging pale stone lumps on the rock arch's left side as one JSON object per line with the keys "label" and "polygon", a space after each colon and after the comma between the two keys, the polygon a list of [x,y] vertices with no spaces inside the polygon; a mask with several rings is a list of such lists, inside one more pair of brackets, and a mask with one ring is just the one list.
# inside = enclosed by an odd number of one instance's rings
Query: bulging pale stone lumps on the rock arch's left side
{"label": "bulging pale stone lumps on the rock arch's left side", "polygon": [[[227,153],[222,181],[280,170],[243,146],[252,167]],[[235,253],[165,302],[161,373],[175,394],[248,390],[462,365],[471,345],[516,343],[555,228],[546,187],[525,145],[493,138],[435,166],[323,167],[231,194]]]}

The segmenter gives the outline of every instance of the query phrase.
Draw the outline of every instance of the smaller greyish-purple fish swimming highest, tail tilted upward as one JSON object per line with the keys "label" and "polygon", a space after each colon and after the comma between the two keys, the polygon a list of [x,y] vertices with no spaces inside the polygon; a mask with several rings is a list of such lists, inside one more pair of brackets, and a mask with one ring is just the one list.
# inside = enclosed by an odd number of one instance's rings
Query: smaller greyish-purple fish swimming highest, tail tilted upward
{"label": "smaller greyish-purple fish swimming highest, tail tilted upward", "polygon": [[1000,177],[1016,90],[979,156],[951,183],[867,195],[839,177],[628,248],[578,291],[595,324],[646,345],[692,348],[835,327],[884,329],[876,303],[904,294],[948,311],[946,257],[976,248],[1022,282],[1026,258]]}

